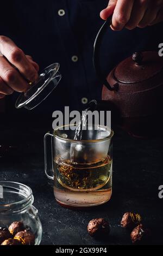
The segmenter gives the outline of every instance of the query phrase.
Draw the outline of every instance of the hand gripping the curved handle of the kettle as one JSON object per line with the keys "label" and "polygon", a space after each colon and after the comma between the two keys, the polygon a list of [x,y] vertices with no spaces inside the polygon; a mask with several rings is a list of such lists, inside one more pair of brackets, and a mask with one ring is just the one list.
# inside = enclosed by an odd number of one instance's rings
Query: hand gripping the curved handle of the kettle
{"label": "hand gripping the curved handle of the kettle", "polygon": [[100,16],[106,20],[112,14],[111,28],[116,31],[152,26],[163,21],[163,0],[110,0]]}

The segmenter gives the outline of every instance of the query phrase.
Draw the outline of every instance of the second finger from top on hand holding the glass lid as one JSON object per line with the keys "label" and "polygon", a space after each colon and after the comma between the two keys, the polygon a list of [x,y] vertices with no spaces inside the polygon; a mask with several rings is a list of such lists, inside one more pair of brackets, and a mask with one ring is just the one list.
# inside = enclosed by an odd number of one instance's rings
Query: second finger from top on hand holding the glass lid
{"label": "second finger from top on hand holding the glass lid", "polygon": [[16,92],[24,92],[27,90],[27,82],[4,57],[0,57],[0,66],[0,76],[12,90]]}

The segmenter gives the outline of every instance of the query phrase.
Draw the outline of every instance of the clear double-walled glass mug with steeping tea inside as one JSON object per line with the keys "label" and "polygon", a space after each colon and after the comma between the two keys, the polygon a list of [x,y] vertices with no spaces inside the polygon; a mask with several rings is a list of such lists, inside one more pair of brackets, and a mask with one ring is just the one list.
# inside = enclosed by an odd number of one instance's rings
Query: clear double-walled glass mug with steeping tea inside
{"label": "clear double-walled glass mug with steeping tea inside", "polygon": [[44,138],[45,173],[54,180],[54,197],[64,206],[104,204],[112,194],[114,132],[108,127],[88,125],[82,131],[82,140],[74,140],[75,129],[73,125],[62,126]]}

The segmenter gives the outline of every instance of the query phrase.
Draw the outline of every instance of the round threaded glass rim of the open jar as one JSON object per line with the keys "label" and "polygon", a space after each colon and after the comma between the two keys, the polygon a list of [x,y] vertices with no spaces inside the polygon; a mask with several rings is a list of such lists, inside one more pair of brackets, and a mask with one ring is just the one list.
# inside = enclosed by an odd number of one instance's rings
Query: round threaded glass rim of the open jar
{"label": "round threaded glass rim of the open jar", "polygon": [[[0,189],[2,190],[2,195],[7,192],[10,195],[20,195],[20,197],[23,198],[11,203],[1,203],[0,215],[7,212],[17,212],[26,209],[29,205],[33,204],[34,198],[32,189],[25,184],[12,181],[0,181]],[[1,198],[3,199],[3,197]]]}

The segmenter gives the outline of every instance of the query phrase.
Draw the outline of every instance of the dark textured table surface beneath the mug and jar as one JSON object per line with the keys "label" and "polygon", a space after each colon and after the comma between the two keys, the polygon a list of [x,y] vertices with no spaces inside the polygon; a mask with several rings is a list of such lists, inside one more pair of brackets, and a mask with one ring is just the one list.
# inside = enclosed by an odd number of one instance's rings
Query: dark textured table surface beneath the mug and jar
{"label": "dark textured table surface beneath the mug and jar", "polygon": [[[52,120],[1,118],[0,180],[27,184],[43,227],[42,245],[130,245],[130,233],[120,227],[126,211],[141,213],[153,231],[152,244],[163,245],[163,139],[140,140],[117,131],[114,136],[113,194],[109,203],[93,209],[72,211],[58,205],[52,184],[44,174],[43,134]],[[12,147],[9,147],[12,146]],[[110,236],[95,240],[87,234],[92,218],[106,218]]]}

